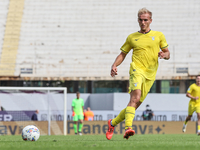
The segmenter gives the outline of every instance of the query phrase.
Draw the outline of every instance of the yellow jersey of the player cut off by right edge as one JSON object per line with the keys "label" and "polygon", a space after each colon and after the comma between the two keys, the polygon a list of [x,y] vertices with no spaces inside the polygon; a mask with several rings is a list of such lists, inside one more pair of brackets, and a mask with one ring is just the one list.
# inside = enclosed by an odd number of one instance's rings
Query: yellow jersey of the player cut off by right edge
{"label": "yellow jersey of the player cut off by right edge", "polygon": [[190,103],[192,103],[193,105],[200,105],[200,86],[197,86],[196,83],[193,83],[188,88],[187,93],[189,93],[193,97],[199,97],[199,99],[197,100],[190,99]]}

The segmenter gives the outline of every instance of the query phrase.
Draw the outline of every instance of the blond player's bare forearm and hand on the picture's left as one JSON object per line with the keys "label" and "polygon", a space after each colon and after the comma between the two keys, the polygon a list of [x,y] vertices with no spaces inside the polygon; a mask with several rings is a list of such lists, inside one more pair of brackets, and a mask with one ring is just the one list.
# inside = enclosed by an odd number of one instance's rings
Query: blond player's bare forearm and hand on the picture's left
{"label": "blond player's bare forearm and hand on the picture's left", "polygon": [[115,75],[117,75],[117,66],[119,66],[125,59],[126,57],[126,53],[121,52],[117,58],[115,59],[115,62],[113,63],[113,65],[111,66],[111,72],[110,75],[112,77],[114,77]]}

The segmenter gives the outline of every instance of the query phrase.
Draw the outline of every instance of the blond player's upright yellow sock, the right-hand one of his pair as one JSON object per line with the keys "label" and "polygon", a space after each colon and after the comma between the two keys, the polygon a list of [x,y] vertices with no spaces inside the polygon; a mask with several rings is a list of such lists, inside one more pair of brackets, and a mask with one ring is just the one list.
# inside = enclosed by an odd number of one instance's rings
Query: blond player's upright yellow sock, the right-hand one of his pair
{"label": "blond player's upright yellow sock, the right-hand one of his pair", "polygon": [[135,107],[127,106],[125,113],[125,130],[128,128],[132,129],[133,119],[135,117]]}

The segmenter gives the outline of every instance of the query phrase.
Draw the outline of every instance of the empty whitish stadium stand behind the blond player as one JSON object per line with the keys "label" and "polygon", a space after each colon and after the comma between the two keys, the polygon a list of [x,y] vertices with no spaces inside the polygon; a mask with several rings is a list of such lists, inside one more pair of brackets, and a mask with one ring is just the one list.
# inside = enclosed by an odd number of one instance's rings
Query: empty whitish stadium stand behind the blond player
{"label": "empty whitish stadium stand behind the blond player", "polygon": [[[200,73],[198,0],[5,0],[1,4],[1,22],[6,24],[1,26],[5,31],[0,40],[1,76],[113,80],[110,65],[126,37],[139,29],[137,11],[142,7],[153,12],[152,30],[166,35],[171,51],[170,61],[160,60],[157,79],[187,79]],[[6,45],[13,47],[12,53]],[[131,54],[127,57],[115,80],[128,79]]]}

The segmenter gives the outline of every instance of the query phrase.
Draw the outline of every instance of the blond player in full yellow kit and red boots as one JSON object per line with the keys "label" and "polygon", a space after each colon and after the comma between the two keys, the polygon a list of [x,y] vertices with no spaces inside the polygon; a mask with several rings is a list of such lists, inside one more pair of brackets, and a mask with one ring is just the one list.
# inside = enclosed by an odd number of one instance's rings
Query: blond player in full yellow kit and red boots
{"label": "blond player in full yellow kit and red boots", "polygon": [[124,138],[128,139],[135,134],[132,130],[132,123],[135,117],[135,110],[140,106],[152,87],[158,68],[158,58],[169,59],[170,52],[165,36],[162,32],[150,29],[152,22],[152,12],[146,8],[138,11],[138,23],[140,30],[130,34],[126,42],[121,47],[121,53],[115,59],[111,67],[111,76],[117,75],[119,66],[131,49],[132,62],[129,70],[129,93],[130,101],[119,115],[108,120],[108,130],[106,138],[110,140],[113,136],[114,128],[125,119]]}

